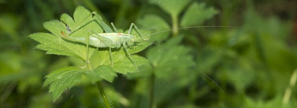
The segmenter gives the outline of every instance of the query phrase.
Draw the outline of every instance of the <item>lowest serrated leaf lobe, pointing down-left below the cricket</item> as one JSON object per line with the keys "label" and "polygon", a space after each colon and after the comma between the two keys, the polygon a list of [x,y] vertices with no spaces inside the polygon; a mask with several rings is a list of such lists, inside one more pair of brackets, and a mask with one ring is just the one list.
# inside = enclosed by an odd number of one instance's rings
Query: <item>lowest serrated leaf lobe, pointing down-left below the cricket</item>
{"label": "lowest serrated leaf lobe, pointing down-left below the cricket", "polygon": [[55,101],[64,90],[71,88],[80,82],[84,70],[78,67],[63,67],[49,73],[45,78],[43,87],[49,85],[49,93],[52,93]]}

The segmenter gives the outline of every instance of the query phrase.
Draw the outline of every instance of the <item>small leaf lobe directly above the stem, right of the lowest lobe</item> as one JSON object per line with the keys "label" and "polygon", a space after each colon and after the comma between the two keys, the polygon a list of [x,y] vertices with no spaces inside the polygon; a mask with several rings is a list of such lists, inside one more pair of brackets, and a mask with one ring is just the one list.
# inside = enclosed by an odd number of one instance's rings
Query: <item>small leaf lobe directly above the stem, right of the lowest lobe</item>
{"label": "small leaf lobe directly above the stem, right of the lowest lobe", "polygon": [[100,81],[102,78],[112,82],[114,77],[116,77],[116,72],[110,66],[100,65],[93,71],[86,72],[85,75],[94,82]]}

